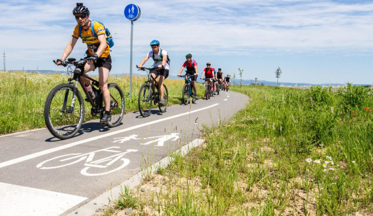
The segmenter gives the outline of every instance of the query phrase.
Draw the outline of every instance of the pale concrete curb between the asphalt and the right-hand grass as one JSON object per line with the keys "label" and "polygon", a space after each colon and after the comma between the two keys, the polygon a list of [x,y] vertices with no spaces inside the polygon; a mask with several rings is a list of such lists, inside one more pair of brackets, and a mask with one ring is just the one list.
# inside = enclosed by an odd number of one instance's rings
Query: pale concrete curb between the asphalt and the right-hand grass
{"label": "pale concrete curb between the asphalt and the right-hand grass", "polygon": [[[177,151],[176,154],[180,154],[181,156],[186,155],[192,148],[201,145],[204,142],[204,139],[194,139],[193,141],[189,142],[187,145],[181,147]],[[93,215],[98,208],[102,208],[105,205],[109,204],[110,200],[117,200],[120,194],[121,189],[125,186],[129,187],[129,189],[133,189],[136,186],[140,185],[143,180],[143,177],[147,174],[153,174],[159,167],[166,167],[168,164],[173,162],[174,159],[171,156],[167,156],[162,160],[158,161],[157,163],[153,164],[151,167],[137,173],[127,181],[122,182],[118,186],[112,188],[109,191],[104,192],[100,196],[94,198],[89,203],[79,207],[77,210],[69,213],[67,216],[89,216]],[[145,174],[145,175],[144,175]],[[65,214],[63,214],[65,215]]]}

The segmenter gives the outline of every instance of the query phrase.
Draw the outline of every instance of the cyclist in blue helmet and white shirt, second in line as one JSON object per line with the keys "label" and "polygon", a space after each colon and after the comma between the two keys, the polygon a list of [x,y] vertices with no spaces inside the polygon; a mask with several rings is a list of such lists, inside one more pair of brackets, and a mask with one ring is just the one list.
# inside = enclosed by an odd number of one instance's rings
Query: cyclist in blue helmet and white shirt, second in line
{"label": "cyclist in blue helmet and white shirt, second in line", "polygon": [[[162,50],[159,48],[159,41],[158,40],[152,40],[150,42],[150,46],[152,47],[152,50],[148,52],[148,54],[144,57],[144,59],[140,62],[140,64],[137,66],[137,68],[142,68],[142,66],[145,64],[146,61],[148,61],[149,58],[153,58],[154,64],[153,67],[157,67],[157,69],[151,71],[153,79],[158,79],[158,91],[160,94],[160,99],[158,104],[161,106],[165,105],[165,101],[163,99],[163,94],[165,89],[163,88],[163,81],[166,80],[166,78],[169,76],[169,60],[168,60],[168,53],[166,50]],[[153,81],[154,84],[154,81]],[[154,85],[153,85],[154,86]]]}

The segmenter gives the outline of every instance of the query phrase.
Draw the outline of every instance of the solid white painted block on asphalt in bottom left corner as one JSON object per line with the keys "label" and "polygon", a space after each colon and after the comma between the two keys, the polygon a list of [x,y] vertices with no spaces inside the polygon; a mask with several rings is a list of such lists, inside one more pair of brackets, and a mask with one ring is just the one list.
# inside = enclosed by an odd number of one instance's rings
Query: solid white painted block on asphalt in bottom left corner
{"label": "solid white painted block on asphalt in bottom left corner", "polygon": [[61,215],[87,199],[0,182],[0,216]]}

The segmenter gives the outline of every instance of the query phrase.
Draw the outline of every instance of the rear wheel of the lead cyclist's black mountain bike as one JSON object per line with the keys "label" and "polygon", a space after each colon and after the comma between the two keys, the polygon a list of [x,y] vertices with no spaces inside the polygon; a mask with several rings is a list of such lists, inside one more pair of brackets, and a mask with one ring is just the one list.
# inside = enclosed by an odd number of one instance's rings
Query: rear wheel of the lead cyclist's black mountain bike
{"label": "rear wheel of the lead cyclist's black mountain bike", "polygon": [[107,89],[110,93],[110,112],[111,121],[106,125],[115,127],[120,124],[123,118],[125,102],[122,89],[115,83],[107,84]]}

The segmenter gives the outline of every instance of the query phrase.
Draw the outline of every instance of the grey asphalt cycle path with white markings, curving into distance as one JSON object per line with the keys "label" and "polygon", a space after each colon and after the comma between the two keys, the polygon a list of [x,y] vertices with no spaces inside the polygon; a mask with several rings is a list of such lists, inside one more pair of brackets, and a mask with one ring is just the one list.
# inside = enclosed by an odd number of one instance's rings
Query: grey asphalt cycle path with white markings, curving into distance
{"label": "grey asphalt cycle path with white markings, curving into distance", "polygon": [[74,215],[111,188],[199,140],[203,125],[229,120],[248,102],[246,95],[220,91],[210,100],[173,105],[164,113],[154,109],[146,118],[139,111],[126,113],[114,128],[91,120],[67,140],[53,137],[46,128],[2,135],[0,216]]}

